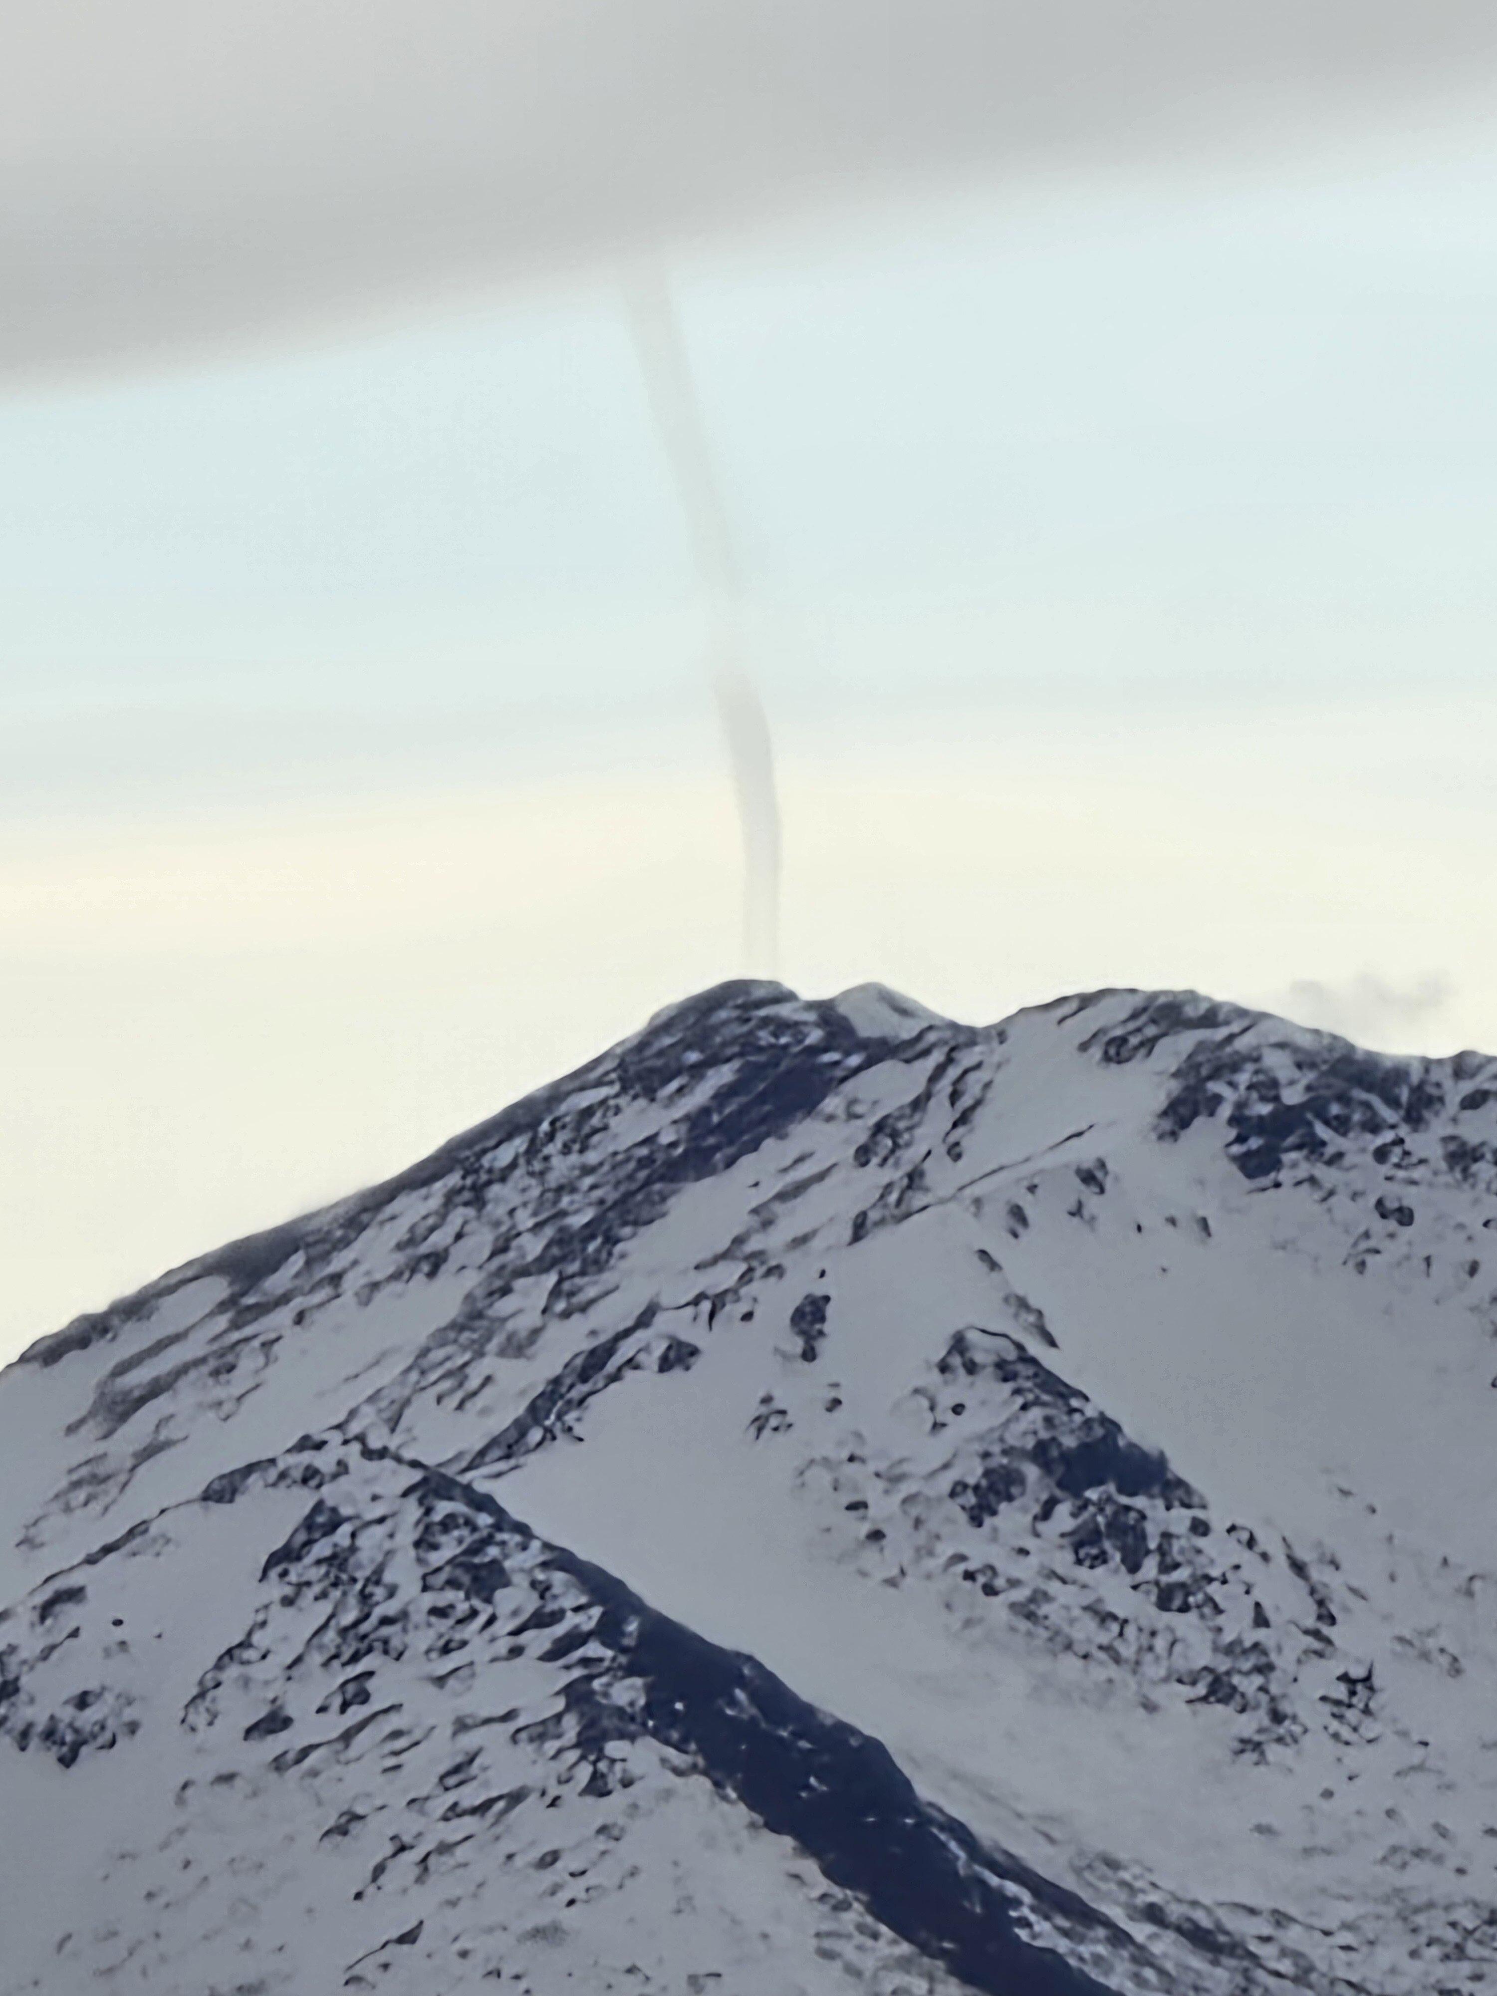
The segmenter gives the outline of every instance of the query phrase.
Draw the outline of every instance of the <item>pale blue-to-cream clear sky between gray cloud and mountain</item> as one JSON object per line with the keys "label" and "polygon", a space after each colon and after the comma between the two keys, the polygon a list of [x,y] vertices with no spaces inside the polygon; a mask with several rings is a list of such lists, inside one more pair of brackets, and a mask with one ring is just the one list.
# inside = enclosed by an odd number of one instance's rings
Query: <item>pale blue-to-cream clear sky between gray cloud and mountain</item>
{"label": "pale blue-to-cream clear sky between gray cloud and mountain", "polygon": [[[1497,1046],[1497,140],[681,251],[782,976]],[[0,1357],[739,972],[619,287],[0,397]]]}

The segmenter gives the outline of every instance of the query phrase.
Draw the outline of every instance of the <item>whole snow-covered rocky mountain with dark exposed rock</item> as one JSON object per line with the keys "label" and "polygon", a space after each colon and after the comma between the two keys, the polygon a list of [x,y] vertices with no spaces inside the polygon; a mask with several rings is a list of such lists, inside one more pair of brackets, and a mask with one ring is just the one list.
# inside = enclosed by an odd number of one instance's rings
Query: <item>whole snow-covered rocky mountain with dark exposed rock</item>
{"label": "whole snow-covered rocky mountain with dark exposed rock", "polygon": [[1479,1056],[661,1014],[0,1377],[0,1992],[1497,1986],[1495,1234]]}

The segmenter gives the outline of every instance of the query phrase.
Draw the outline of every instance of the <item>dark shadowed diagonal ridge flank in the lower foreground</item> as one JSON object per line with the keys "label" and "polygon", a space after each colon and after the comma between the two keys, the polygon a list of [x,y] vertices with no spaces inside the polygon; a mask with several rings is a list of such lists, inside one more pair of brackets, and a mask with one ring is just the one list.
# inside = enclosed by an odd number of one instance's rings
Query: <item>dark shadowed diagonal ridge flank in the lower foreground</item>
{"label": "dark shadowed diagonal ridge flank in the lower foreground", "polygon": [[[415,1495],[479,1509],[505,1533],[533,1539],[487,1493],[441,1471],[423,1473]],[[828,1882],[980,1996],[1114,1996],[1020,1934],[1020,1892],[1122,1950],[1130,1938],[922,1800],[880,1741],[816,1711],[752,1657],[659,1615],[601,1567],[563,1549],[549,1559],[599,1605],[591,1643],[619,1665],[607,1679],[585,1673],[567,1685],[579,1737],[645,1733],[689,1754],[717,1788],[814,1858]],[[635,1691],[627,1707],[609,1697],[617,1675]]]}

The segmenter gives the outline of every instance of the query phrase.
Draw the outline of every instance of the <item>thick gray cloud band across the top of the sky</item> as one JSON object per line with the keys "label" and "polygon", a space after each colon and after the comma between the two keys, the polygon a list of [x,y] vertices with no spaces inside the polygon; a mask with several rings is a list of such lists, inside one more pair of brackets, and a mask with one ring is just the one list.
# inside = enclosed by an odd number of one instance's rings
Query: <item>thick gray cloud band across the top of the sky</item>
{"label": "thick gray cloud band across the top of the sky", "polygon": [[1497,76],[1489,0],[4,0],[0,369]]}

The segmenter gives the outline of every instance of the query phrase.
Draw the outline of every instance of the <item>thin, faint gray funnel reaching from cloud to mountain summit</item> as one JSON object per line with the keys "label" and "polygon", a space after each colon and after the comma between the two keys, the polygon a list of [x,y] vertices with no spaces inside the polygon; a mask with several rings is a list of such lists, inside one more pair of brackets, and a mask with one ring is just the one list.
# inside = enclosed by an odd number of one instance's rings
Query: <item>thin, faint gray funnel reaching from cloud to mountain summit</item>
{"label": "thin, faint gray funnel reaching from cloud to mountain summit", "polygon": [[750,976],[770,978],[776,972],[780,926],[780,808],[768,721],[743,663],[739,563],[665,277],[637,275],[627,287],[627,301],[655,431],[675,477],[711,613],[713,693],[729,745],[743,828],[745,968]]}

